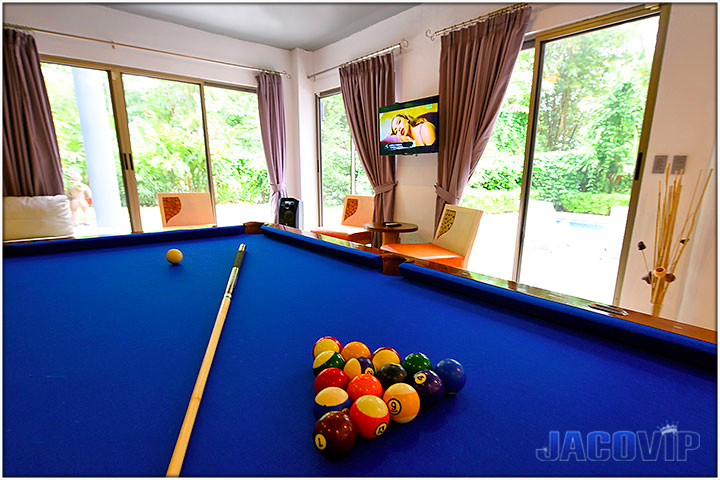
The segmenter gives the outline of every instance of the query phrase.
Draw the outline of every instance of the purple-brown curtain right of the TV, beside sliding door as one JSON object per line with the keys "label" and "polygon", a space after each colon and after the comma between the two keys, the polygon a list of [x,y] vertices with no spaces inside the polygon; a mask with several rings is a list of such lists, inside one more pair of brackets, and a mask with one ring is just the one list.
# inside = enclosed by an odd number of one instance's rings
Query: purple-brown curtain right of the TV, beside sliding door
{"label": "purple-brown curtain right of the TV, beside sliding door", "polygon": [[490,140],[530,10],[523,7],[442,37],[436,226],[445,204],[457,205],[462,198]]}

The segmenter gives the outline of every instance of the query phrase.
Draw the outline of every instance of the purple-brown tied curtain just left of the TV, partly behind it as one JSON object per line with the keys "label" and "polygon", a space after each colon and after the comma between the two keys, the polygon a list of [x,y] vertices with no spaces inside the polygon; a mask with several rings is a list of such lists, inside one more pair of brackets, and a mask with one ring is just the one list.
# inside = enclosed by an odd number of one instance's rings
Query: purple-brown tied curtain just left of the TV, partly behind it
{"label": "purple-brown tied curtain just left of the TV, partly behind it", "polygon": [[[340,89],[350,133],[375,192],[374,222],[393,220],[395,212],[395,156],[380,155],[380,107],[395,103],[395,65],[392,53],[340,68]],[[373,234],[373,244],[377,242]]]}

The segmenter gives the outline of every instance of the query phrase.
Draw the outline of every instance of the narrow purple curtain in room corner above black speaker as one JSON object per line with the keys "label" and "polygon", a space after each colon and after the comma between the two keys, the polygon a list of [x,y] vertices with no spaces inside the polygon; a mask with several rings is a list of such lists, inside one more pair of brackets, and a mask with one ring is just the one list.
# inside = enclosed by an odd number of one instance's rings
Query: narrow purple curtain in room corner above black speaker
{"label": "narrow purple curtain in room corner above black speaker", "polygon": [[258,113],[260,131],[265,150],[265,162],[270,180],[270,208],[273,221],[278,223],[278,204],[280,198],[287,197],[285,185],[285,99],[282,90],[282,78],[277,74],[262,73],[258,81]]}

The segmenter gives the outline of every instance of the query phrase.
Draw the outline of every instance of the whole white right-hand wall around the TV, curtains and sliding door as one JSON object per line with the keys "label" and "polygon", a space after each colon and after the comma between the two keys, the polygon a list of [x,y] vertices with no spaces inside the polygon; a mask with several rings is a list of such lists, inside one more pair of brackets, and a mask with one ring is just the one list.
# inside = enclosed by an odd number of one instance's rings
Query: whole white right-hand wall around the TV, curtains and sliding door
{"label": "whole white right-hand wall around the TV, curtains and sliding door", "polygon": [[[438,92],[440,40],[431,41],[426,30],[436,31],[495,10],[500,4],[424,4],[402,12],[333,45],[314,52],[312,71],[317,72],[407,39],[409,48],[396,54],[396,98],[421,98]],[[535,4],[529,33],[547,30],[630,4]],[[685,184],[694,182],[701,168],[716,163],[716,7],[714,4],[673,4],[659,84],[648,158],[655,154],[688,155]],[[315,80],[315,92],[336,88],[337,71]],[[657,175],[645,165],[645,181],[632,234],[633,245],[653,238]],[[429,241],[433,234],[437,155],[398,157],[396,218],[417,223],[412,241]],[[688,188],[688,187],[686,187]],[[694,245],[689,247],[677,272],[678,279],[666,297],[662,315],[715,329],[716,319],[716,181],[699,215]],[[688,196],[689,197],[689,194]],[[685,198],[688,201],[689,198]],[[649,287],[642,282],[644,266],[633,249],[620,305],[650,312]],[[687,281],[691,279],[691,281]],[[684,295],[683,295],[684,293]],[[685,299],[683,302],[682,299]]]}

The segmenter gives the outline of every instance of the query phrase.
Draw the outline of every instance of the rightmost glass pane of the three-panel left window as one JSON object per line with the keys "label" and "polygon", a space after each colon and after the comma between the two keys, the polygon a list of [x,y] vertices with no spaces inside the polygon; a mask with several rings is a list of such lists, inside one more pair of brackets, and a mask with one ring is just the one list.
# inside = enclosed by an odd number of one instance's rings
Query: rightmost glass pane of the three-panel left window
{"label": "rightmost glass pane of the three-panel left window", "polygon": [[272,221],[257,94],[205,87],[218,225]]}

